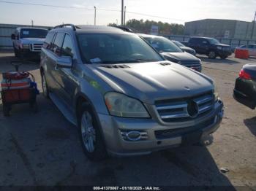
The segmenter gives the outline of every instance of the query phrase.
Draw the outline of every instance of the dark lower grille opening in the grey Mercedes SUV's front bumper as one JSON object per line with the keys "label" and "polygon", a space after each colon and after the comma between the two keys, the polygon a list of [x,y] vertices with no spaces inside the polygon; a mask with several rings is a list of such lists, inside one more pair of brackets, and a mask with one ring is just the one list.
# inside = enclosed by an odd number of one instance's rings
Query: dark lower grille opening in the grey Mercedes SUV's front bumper
{"label": "dark lower grille opening in the grey Mercedes SUV's front bumper", "polygon": [[176,128],[176,129],[167,129],[167,130],[156,130],[154,135],[157,139],[170,139],[176,136],[184,136],[187,133],[193,133],[197,130],[203,130],[203,128],[207,128],[209,125],[214,124],[215,117],[212,117],[210,120],[206,120],[204,122],[198,123],[197,125],[193,125],[185,128]]}

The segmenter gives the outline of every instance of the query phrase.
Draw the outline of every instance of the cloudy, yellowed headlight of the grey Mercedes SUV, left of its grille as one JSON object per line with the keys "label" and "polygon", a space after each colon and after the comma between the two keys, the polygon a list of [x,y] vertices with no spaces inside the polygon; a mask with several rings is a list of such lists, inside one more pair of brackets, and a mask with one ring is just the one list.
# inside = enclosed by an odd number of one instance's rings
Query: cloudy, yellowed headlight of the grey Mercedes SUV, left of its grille
{"label": "cloudy, yellowed headlight of the grey Mercedes SUV, left of its grille", "polygon": [[106,93],[105,104],[110,114],[118,117],[150,117],[143,104],[121,93]]}

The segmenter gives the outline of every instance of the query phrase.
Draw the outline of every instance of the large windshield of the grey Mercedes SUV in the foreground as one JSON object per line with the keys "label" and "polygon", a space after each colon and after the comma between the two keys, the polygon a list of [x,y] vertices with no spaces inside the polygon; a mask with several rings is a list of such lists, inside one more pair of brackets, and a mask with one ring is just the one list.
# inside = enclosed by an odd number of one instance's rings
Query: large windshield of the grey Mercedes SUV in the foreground
{"label": "large windshield of the grey Mercedes SUV in the foreground", "polygon": [[163,61],[143,39],[134,34],[78,34],[85,63],[139,63]]}

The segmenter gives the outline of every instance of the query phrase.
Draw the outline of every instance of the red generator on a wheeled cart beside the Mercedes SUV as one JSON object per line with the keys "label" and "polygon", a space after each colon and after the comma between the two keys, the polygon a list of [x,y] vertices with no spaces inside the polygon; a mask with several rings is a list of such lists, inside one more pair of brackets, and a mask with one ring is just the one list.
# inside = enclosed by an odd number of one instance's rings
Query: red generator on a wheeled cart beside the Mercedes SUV
{"label": "red generator on a wheeled cart beside the Mercedes SUV", "polygon": [[18,71],[20,63],[12,62],[16,71],[3,74],[1,80],[1,100],[4,116],[10,116],[13,104],[28,103],[37,112],[37,83],[34,76],[26,71]]}

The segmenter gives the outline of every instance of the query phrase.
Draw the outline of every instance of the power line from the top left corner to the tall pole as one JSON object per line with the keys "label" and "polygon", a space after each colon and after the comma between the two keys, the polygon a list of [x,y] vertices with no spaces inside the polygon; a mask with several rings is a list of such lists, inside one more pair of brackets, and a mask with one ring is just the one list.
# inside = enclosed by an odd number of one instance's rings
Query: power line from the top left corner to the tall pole
{"label": "power line from the top left corner to the tall pole", "polygon": [[[21,3],[17,1],[0,1],[0,3],[4,4],[20,4],[20,5],[32,5],[32,6],[42,6],[42,7],[57,7],[57,8],[65,8],[65,9],[89,9],[94,10],[93,7],[69,7],[69,6],[60,6],[60,5],[54,5],[54,4],[31,4],[31,3]],[[116,9],[97,9],[101,11],[112,11],[112,12],[120,12]]]}

